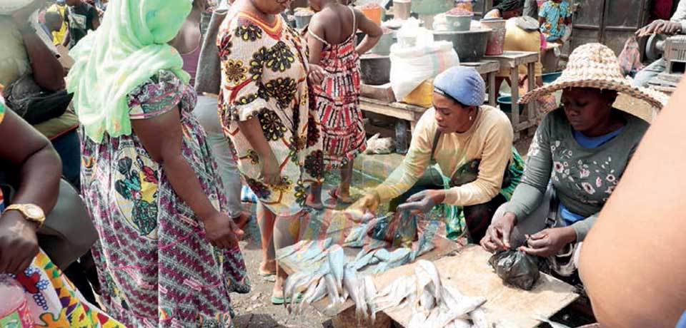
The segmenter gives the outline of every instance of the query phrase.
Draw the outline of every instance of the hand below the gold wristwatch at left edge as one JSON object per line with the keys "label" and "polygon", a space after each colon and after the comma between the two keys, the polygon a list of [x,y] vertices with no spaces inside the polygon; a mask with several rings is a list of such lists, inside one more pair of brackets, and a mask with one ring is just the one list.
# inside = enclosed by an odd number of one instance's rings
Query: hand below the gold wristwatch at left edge
{"label": "hand below the gold wristwatch at left edge", "polygon": [[19,275],[38,254],[37,226],[12,210],[0,217],[0,273]]}

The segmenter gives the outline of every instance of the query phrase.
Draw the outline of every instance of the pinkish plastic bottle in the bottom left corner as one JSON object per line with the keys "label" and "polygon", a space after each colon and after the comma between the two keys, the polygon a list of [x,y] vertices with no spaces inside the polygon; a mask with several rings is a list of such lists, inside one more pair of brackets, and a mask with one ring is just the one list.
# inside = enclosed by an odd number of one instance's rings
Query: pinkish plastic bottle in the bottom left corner
{"label": "pinkish plastic bottle in the bottom left corner", "polygon": [[0,274],[0,328],[33,327],[24,288],[9,275]]}

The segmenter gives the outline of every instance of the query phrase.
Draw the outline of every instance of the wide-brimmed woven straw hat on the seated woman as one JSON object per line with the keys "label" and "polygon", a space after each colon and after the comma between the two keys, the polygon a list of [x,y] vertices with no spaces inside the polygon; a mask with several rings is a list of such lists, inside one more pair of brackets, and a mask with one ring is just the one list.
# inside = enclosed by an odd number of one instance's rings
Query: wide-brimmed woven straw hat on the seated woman
{"label": "wide-brimmed woven straw hat on the seated woman", "polygon": [[576,48],[560,78],[525,94],[520,103],[528,103],[565,88],[615,90],[645,101],[655,108],[665,106],[668,99],[664,93],[632,86],[631,80],[622,75],[615,53],[600,43],[587,43]]}

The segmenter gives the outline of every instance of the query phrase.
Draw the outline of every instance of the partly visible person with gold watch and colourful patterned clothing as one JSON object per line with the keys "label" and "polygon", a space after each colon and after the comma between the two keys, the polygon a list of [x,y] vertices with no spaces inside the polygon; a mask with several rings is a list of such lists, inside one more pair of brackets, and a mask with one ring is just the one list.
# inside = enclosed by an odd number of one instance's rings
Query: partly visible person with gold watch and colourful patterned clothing
{"label": "partly visible person with gold watch and colourful patterned clothing", "polygon": [[[9,281],[6,276],[3,277],[9,274],[24,287],[24,315],[30,317],[20,317],[20,313],[9,316],[1,313],[6,317],[1,320],[0,326],[16,327],[11,324],[30,320],[35,327],[124,328],[86,302],[59,267],[39,249],[36,238],[38,226],[35,222],[26,220],[18,210],[4,211],[6,205],[32,204],[48,214],[59,194],[61,165],[50,141],[9,108],[5,108],[2,96],[0,158],[3,166],[11,165],[21,171],[19,190],[16,190],[11,201],[3,198],[0,190],[0,283]],[[0,302],[6,301],[0,299]],[[21,323],[19,325],[29,327]]]}

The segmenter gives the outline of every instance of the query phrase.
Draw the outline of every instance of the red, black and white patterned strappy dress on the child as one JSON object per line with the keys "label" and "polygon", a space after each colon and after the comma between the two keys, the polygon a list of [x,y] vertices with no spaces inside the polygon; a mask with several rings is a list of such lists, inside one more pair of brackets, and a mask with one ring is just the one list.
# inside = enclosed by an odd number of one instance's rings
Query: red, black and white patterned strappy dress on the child
{"label": "red, black and white patterned strappy dress on the child", "polygon": [[355,41],[353,33],[343,43],[324,43],[320,65],[328,74],[321,85],[312,86],[314,99],[311,101],[322,122],[327,169],[346,165],[367,149],[362,110],[359,109],[359,55],[355,51]]}

